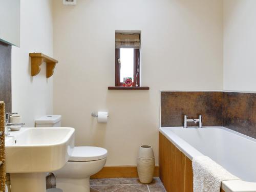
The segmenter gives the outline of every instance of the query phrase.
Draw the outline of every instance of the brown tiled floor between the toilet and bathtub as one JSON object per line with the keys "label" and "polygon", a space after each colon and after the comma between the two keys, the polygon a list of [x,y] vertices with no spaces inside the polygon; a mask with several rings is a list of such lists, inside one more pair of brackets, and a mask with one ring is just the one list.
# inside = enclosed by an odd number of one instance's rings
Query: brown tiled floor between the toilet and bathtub
{"label": "brown tiled floor between the toilet and bathtub", "polygon": [[166,192],[158,177],[150,184],[142,184],[138,178],[91,179],[91,192]]}

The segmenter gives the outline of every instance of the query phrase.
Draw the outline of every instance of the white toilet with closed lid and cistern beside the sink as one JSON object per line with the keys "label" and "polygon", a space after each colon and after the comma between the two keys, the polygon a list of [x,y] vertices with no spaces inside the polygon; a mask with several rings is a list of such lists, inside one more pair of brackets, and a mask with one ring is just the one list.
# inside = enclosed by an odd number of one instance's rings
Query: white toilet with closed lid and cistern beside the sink
{"label": "white toilet with closed lid and cistern beside the sink", "polygon": [[[36,127],[60,126],[60,115],[36,119]],[[69,161],[54,173],[57,188],[63,192],[90,192],[90,176],[99,172],[106,163],[108,151],[93,146],[76,146]]]}

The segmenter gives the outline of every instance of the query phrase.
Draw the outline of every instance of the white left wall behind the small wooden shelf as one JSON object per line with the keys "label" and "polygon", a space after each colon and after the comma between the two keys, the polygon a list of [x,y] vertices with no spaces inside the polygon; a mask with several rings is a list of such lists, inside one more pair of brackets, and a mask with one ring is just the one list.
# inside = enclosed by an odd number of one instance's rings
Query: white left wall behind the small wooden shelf
{"label": "white left wall behind the small wooden shelf", "polygon": [[31,76],[30,52],[52,55],[52,1],[20,1],[20,48],[12,47],[12,111],[23,116],[26,126],[37,117],[52,114],[52,78],[46,64]]}

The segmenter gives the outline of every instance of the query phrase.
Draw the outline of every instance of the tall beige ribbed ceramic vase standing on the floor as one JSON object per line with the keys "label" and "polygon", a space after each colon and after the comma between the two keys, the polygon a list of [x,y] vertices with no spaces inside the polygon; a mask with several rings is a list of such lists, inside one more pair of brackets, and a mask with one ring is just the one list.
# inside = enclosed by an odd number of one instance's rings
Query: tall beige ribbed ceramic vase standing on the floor
{"label": "tall beige ribbed ceramic vase standing on the floor", "polygon": [[141,183],[151,183],[155,170],[155,156],[150,145],[141,145],[137,158],[137,171]]}

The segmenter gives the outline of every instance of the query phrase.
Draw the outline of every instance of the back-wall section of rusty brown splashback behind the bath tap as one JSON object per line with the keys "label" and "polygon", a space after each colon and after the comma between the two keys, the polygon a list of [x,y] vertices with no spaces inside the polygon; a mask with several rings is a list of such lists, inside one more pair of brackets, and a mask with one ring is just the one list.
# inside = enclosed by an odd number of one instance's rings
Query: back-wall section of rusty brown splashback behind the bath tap
{"label": "back-wall section of rusty brown splashback behind the bath tap", "polygon": [[221,101],[222,92],[162,92],[161,126],[183,126],[184,115],[194,119],[203,115],[204,126],[221,126]]}

